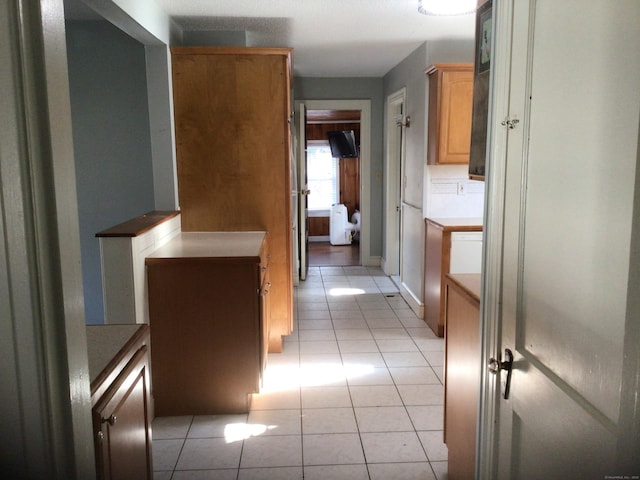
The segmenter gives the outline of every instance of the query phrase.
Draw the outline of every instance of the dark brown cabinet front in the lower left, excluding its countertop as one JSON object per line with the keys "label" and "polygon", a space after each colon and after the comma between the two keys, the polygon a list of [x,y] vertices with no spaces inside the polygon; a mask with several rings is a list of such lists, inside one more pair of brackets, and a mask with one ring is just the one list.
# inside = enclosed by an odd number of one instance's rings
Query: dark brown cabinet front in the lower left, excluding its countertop
{"label": "dark brown cabinet front in the lower left, excluding its countertop", "polygon": [[151,425],[146,345],[93,409],[99,479],[151,479]]}

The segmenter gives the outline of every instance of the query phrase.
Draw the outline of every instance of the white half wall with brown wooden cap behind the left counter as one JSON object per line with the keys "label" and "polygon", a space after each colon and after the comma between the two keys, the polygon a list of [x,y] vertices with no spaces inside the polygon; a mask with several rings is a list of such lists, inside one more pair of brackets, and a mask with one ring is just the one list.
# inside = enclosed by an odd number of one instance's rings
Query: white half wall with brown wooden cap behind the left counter
{"label": "white half wall with brown wooden cap behind the left counter", "polygon": [[180,212],[153,211],[96,233],[104,323],[149,323],[144,259],[180,233]]}

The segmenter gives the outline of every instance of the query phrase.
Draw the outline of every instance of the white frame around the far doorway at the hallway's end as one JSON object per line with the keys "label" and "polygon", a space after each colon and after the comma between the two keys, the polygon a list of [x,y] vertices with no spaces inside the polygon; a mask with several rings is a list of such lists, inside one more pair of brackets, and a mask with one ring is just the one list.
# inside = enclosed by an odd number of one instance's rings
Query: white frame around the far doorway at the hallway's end
{"label": "white frame around the far doorway at the hallway's end", "polygon": [[[360,264],[378,266],[371,258],[371,100],[296,100],[309,110],[360,110]],[[300,156],[298,155],[298,159]]]}

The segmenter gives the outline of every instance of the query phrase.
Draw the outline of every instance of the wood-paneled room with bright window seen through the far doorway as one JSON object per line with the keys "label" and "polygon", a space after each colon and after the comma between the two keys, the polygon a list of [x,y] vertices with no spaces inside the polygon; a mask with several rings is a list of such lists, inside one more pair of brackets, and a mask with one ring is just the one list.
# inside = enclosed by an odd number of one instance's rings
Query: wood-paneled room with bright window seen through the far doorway
{"label": "wood-paneled room with bright window seen through the far doorway", "polygon": [[343,156],[329,140],[329,132],[353,132],[359,147],[360,117],[360,110],[306,111],[311,267],[360,265],[360,156]]}

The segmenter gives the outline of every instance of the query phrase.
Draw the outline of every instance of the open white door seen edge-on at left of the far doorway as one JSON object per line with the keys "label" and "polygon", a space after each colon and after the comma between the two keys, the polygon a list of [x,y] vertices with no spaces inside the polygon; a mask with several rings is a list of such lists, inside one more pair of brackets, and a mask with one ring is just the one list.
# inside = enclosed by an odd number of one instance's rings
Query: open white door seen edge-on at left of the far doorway
{"label": "open white door seen edge-on at left of the far doorway", "polygon": [[307,197],[309,195],[309,185],[307,183],[307,110],[304,103],[298,104],[298,115],[296,126],[298,127],[298,152],[299,154],[299,182],[300,185],[300,208],[298,219],[299,251],[300,251],[300,280],[307,278],[309,265],[307,257],[309,255],[309,226],[307,219],[309,211],[307,208]]}

